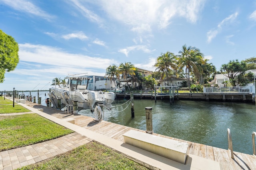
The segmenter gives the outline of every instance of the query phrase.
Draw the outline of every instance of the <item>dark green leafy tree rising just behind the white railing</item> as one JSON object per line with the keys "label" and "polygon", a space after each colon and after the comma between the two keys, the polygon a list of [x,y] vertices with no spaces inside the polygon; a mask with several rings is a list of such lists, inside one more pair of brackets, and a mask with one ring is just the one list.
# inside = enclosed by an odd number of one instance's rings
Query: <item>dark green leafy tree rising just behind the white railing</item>
{"label": "dark green leafy tree rising just behind the white railing", "polygon": [[[236,60],[230,60],[228,64],[222,64],[220,67],[220,72],[227,76],[229,78],[229,82],[231,83],[232,86],[236,86],[236,84],[241,84],[242,78],[241,76],[244,75],[244,72],[246,71],[246,63],[243,61],[239,62],[237,59]],[[239,80],[238,80],[238,75]],[[240,81],[240,82],[239,82]]]}

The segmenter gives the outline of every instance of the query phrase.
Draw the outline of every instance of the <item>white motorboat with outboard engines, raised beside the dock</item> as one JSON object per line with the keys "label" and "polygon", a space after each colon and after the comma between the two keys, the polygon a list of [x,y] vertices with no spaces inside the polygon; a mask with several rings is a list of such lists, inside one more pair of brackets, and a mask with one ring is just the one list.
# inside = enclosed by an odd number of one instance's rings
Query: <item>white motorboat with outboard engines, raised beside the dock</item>
{"label": "white motorboat with outboard engines, raised beside the dock", "polygon": [[58,108],[58,100],[60,100],[61,108],[67,105],[73,105],[77,101],[78,110],[91,109],[94,110],[94,106],[98,103],[103,103],[104,106],[111,108],[112,102],[114,102],[115,94],[113,92],[91,91],[87,90],[87,85],[82,85],[82,81],[89,80],[84,76],[67,77],[67,86],[63,88],[51,88],[51,92],[48,94],[50,101],[55,108]]}

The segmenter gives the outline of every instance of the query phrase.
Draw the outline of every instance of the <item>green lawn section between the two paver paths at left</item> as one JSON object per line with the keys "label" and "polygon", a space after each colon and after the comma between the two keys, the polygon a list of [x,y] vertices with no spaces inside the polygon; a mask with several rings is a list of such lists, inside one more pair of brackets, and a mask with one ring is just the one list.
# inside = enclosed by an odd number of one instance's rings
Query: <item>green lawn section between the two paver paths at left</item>
{"label": "green lawn section between the two paver paths at left", "polygon": [[0,151],[48,141],[72,132],[36,113],[0,116]]}

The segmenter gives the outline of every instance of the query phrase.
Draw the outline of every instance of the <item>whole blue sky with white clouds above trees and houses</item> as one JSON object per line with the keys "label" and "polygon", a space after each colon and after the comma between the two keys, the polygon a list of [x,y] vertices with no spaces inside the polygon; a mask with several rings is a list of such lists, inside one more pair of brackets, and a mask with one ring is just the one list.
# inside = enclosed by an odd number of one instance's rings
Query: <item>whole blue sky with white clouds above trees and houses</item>
{"label": "whole blue sky with white clouds above trees and houses", "polygon": [[110,64],[154,71],[161,53],[193,46],[220,69],[256,57],[256,0],[0,0],[0,29],[20,62],[0,90],[44,90]]}

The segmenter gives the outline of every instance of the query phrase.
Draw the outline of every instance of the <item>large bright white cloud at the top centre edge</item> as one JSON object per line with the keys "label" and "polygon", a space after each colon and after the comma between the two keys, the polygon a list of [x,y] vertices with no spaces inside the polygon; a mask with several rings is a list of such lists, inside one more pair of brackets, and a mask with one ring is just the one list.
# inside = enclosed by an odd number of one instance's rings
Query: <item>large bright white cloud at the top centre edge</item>
{"label": "large bright white cloud at the top centre edge", "polygon": [[98,5],[114,20],[132,31],[150,32],[154,25],[165,29],[174,17],[196,22],[205,0],[100,0]]}

